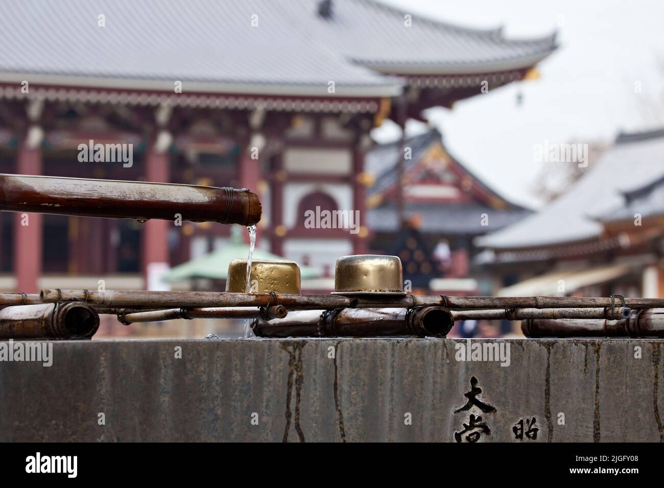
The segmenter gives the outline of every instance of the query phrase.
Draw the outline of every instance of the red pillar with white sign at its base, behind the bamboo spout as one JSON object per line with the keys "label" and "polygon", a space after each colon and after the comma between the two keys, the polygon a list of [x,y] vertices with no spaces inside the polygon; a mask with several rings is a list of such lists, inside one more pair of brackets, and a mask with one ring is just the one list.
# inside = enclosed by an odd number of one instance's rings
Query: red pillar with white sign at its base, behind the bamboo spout
{"label": "red pillar with white sign at its base, behind the bamboo spout", "polygon": [[[159,183],[169,183],[170,160],[166,151],[157,151],[153,147],[145,159],[145,179]],[[175,212],[174,212],[175,215]],[[157,276],[169,267],[168,233],[169,220],[147,220],[143,224],[142,264],[145,289],[164,289],[158,284]]]}

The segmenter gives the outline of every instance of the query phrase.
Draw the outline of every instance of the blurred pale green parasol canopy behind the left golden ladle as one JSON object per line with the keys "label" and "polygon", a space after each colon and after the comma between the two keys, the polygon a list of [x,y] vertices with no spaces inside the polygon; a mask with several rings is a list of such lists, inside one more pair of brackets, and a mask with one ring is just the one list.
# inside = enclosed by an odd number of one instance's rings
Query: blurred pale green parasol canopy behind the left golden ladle
{"label": "blurred pale green parasol canopy behind the left golden ladle", "polygon": [[[228,264],[234,259],[246,259],[249,254],[249,244],[242,242],[238,232],[232,232],[230,242],[225,246],[172,268],[165,276],[167,282],[192,280],[193,278],[210,278],[212,280],[226,280]],[[284,258],[260,248],[254,249],[254,260],[284,261]],[[300,276],[303,280],[318,278],[321,274],[315,268],[300,266]]]}

